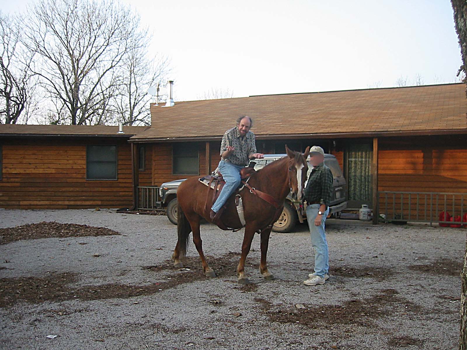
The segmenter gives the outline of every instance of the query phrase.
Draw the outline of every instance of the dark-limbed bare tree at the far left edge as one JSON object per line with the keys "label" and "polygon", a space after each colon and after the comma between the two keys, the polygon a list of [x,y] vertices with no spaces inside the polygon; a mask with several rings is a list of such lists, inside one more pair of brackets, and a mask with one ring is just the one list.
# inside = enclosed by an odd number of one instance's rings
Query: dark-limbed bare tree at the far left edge
{"label": "dark-limbed bare tree at the far left edge", "polygon": [[20,42],[20,28],[8,15],[0,13],[0,124],[16,124],[30,105],[31,56]]}

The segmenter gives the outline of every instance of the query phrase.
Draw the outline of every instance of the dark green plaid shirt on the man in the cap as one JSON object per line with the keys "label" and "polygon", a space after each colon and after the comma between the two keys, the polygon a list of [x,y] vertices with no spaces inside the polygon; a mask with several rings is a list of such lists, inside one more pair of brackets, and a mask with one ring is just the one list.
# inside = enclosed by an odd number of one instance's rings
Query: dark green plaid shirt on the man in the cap
{"label": "dark green plaid shirt on the man in the cap", "polygon": [[308,203],[325,204],[326,209],[333,194],[333,173],[324,164],[317,165],[311,170],[305,188],[305,199]]}

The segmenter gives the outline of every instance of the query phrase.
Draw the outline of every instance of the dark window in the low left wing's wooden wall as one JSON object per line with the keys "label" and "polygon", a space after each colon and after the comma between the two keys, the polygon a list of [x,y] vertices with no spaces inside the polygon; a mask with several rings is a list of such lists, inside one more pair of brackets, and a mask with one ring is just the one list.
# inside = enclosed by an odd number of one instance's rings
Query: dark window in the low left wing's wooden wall
{"label": "dark window in the low left wing's wooden wall", "polygon": [[117,146],[87,146],[86,179],[117,180]]}

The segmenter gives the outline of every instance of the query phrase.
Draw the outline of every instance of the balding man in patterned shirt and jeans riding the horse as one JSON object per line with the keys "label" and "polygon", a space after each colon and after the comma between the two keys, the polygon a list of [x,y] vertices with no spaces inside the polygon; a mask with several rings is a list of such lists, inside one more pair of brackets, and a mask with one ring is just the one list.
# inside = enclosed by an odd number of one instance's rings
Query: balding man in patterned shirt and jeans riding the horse
{"label": "balding man in patterned shirt and jeans riding the horse", "polygon": [[264,155],[256,152],[255,134],[250,131],[252,126],[250,117],[241,116],[237,119],[237,126],[227,130],[222,137],[219,172],[226,184],[212,204],[209,216],[214,224],[219,223],[223,205],[240,185],[240,170],[248,165],[249,160],[259,159]]}

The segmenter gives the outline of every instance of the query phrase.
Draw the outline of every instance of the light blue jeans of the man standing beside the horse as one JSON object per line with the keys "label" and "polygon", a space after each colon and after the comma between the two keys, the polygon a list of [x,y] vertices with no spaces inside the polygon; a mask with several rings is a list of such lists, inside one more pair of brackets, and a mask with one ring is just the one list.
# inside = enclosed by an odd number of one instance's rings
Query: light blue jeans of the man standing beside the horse
{"label": "light blue jeans of the man standing beside the horse", "polygon": [[329,208],[324,212],[321,224],[316,226],[315,219],[318,216],[318,211],[319,204],[310,204],[306,206],[306,220],[310,228],[311,245],[315,249],[315,275],[324,277],[325,273],[329,273],[329,254],[324,231],[324,223],[329,213]]}

